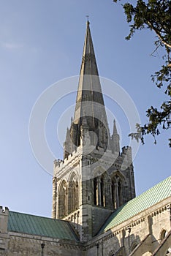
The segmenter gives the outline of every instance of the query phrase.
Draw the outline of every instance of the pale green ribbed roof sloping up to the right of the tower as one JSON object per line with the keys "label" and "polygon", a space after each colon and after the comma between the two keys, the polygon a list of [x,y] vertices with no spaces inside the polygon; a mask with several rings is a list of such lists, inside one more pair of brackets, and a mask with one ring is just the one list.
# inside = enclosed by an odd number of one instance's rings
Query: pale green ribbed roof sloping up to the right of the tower
{"label": "pale green ribbed roof sloping up to the right of the tower", "polygon": [[102,226],[99,233],[110,230],[112,227],[119,225],[121,222],[126,221],[141,211],[159,203],[171,195],[171,176],[161,181],[156,186],[148,189],[146,192],[142,193],[138,197],[125,203],[123,206],[118,208],[112,215],[110,215],[107,222]]}

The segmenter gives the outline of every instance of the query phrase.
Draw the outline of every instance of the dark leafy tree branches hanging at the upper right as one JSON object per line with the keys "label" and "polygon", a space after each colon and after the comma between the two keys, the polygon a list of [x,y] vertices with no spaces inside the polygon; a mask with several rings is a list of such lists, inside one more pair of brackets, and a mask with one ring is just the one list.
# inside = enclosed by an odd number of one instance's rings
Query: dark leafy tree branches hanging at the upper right
{"label": "dark leafy tree branches hanging at the upper right", "polygon": [[[121,0],[113,0],[114,2]],[[148,116],[148,124],[141,126],[137,124],[137,132],[129,136],[141,140],[144,143],[144,135],[151,134],[156,143],[156,135],[159,135],[159,127],[161,129],[171,128],[171,1],[170,0],[138,0],[136,5],[130,3],[123,4],[123,10],[126,14],[127,22],[130,23],[129,35],[126,39],[131,39],[136,30],[150,29],[156,34],[154,42],[155,50],[164,49],[164,64],[159,71],[156,71],[151,78],[156,86],[164,87],[164,92],[168,97],[167,101],[163,101],[160,109],[148,108],[146,116]],[[169,138],[169,146],[171,147],[171,138]]]}

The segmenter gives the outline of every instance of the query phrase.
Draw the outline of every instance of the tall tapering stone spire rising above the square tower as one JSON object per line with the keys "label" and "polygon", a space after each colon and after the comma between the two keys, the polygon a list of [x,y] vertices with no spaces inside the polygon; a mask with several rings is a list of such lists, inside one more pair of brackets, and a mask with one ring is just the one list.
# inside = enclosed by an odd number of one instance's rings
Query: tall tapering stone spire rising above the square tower
{"label": "tall tapering stone spire rising above the square tower", "polygon": [[[75,146],[80,146],[80,129],[83,123],[83,116],[86,113],[88,130],[92,131],[91,143],[107,148],[107,138],[110,138],[109,128],[89,24],[89,21],[87,21],[71,137]],[[99,138],[99,127],[103,129],[101,133],[104,138],[102,136]]]}

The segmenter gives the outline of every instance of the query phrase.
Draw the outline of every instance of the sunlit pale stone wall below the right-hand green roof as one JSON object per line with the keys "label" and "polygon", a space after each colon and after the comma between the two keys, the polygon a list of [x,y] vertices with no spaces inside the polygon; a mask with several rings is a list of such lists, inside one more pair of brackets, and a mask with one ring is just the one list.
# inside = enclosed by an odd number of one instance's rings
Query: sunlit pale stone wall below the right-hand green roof
{"label": "sunlit pale stone wall below the right-hand green roof", "polygon": [[96,236],[87,243],[86,256],[127,256],[136,246],[140,249],[135,255],[151,255],[161,244],[162,230],[170,231],[168,208],[170,198]]}

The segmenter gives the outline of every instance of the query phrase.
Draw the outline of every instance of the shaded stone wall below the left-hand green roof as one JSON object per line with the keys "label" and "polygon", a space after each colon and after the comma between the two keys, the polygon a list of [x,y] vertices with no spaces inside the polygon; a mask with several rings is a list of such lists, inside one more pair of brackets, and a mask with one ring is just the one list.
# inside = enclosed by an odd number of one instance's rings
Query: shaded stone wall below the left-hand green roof
{"label": "shaded stone wall below the left-hand green roof", "polygon": [[9,234],[7,249],[0,250],[1,256],[40,256],[41,244],[45,256],[84,256],[83,249],[79,244],[72,241],[59,241],[58,239],[42,238],[39,236],[27,236],[24,234]]}

